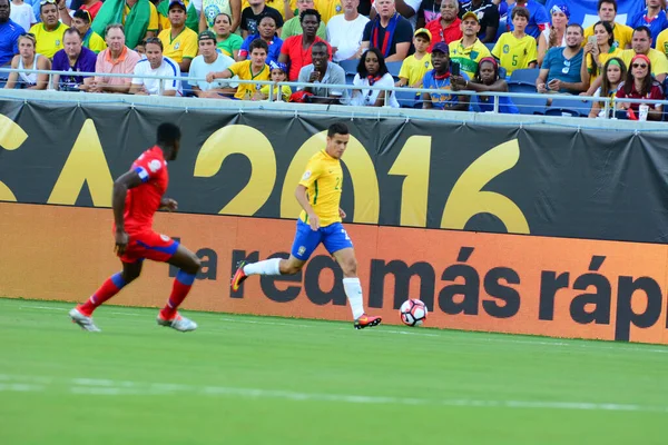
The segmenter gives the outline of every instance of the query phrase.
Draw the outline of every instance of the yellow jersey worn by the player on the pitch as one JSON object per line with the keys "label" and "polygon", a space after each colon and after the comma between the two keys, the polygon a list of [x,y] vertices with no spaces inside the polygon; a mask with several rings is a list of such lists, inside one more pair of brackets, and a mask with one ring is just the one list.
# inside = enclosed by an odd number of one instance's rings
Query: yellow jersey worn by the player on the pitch
{"label": "yellow jersey worn by the player on the pitch", "polygon": [[[299,184],[306,187],[306,198],[320,218],[321,227],[341,222],[338,208],[343,184],[341,160],[320,150],[308,160]],[[299,219],[308,224],[308,215],[302,210]]]}

